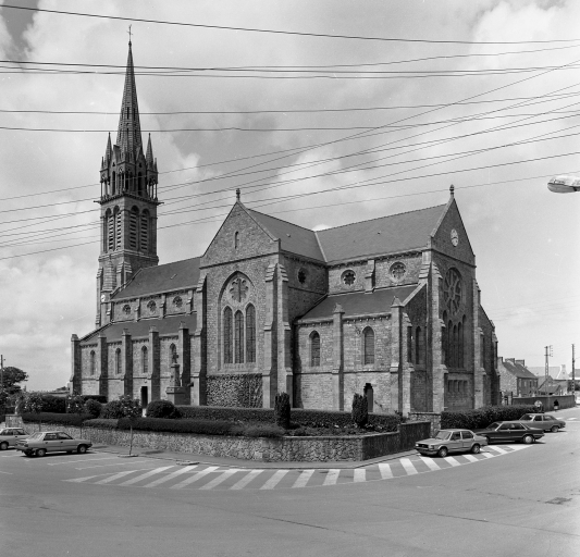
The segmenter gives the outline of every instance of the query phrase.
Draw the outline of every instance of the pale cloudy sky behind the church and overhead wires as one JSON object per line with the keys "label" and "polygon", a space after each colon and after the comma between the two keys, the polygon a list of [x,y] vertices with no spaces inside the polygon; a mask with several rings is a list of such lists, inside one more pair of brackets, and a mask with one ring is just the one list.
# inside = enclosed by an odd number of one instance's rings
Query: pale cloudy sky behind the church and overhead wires
{"label": "pale cloudy sky behind the church and overhead wires", "polygon": [[580,2],[0,0],[0,352],[29,389],[64,386],[71,334],[94,327],[125,18],[161,263],[205,251],[236,187],[314,228],[441,205],[454,184],[499,355],[542,366],[553,345],[571,368],[580,194],[546,183],[580,175]]}

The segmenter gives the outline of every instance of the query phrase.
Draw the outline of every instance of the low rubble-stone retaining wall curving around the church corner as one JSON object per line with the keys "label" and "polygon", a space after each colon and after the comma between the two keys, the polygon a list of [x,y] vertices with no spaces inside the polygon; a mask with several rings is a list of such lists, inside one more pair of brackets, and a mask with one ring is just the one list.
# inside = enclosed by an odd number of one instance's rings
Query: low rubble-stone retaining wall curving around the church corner
{"label": "low rubble-stone retaining wall curving around the church corner", "polygon": [[[28,424],[30,425],[33,424]],[[131,432],[126,430],[84,428],[81,433],[79,428],[42,423],[44,430],[52,428],[65,431],[72,436],[82,436],[94,445],[126,447],[131,440]],[[277,438],[135,431],[133,446],[263,462],[360,461],[411,449],[416,441],[430,436],[430,422],[409,422],[400,424],[396,433]]]}

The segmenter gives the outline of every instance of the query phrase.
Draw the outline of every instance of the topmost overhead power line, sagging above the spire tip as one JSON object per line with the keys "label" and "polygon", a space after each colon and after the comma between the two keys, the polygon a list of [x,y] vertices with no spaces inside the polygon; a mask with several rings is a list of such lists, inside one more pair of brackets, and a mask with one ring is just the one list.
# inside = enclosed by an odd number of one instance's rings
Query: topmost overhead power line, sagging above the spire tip
{"label": "topmost overhead power line, sagging above the spire tip", "polygon": [[120,15],[101,15],[94,13],[83,13],[83,12],[69,12],[61,10],[46,10],[40,8],[25,8],[22,5],[10,5],[1,4],[0,8],[9,8],[13,10],[26,10],[30,12],[45,12],[45,13],[55,13],[60,15],[75,15],[82,17],[95,17],[99,20],[115,20],[123,22],[139,22],[139,23],[152,23],[158,25],[175,25],[180,27],[197,27],[206,29],[219,29],[219,30],[235,30],[235,32],[245,32],[245,33],[262,33],[271,35],[292,35],[299,37],[317,37],[317,38],[332,38],[332,39],[348,39],[348,40],[378,40],[384,42],[422,42],[422,44],[440,44],[440,45],[541,45],[541,44],[558,44],[558,42],[578,42],[580,39],[546,39],[546,40],[434,40],[434,39],[409,39],[409,38],[398,38],[398,37],[369,37],[361,35],[334,35],[328,33],[307,33],[307,32],[296,32],[296,30],[282,30],[282,29],[264,29],[257,27],[234,27],[230,25],[209,25],[200,23],[186,23],[186,22],[172,22],[165,20],[147,20],[144,17],[123,17]]}

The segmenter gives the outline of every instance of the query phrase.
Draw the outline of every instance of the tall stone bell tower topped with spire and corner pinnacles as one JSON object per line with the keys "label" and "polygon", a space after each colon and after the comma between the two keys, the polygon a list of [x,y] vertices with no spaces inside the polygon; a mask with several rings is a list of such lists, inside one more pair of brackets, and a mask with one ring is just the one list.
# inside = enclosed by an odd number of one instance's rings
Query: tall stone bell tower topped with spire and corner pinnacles
{"label": "tall stone bell tower topped with spire and corner pinnacles", "polygon": [[97,327],[110,322],[111,295],[157,257],[158,171],[151,136],[144,153],[133,52],[128,44],[116,143],[107,141],[100,169],[101,249],[97,272]]}

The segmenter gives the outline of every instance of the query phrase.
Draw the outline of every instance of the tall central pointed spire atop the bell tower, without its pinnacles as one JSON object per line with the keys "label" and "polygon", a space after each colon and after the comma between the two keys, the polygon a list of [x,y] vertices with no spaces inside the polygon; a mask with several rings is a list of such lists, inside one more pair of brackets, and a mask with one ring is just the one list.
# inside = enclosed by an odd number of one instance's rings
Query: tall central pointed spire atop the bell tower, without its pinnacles
{"label": "tall central pointed spire atop the bell tower, without its pinnacles", "polygon": [[133,52],[128,44],[127,69],[125,72],[125,87],[121,103],[116,145],[121,148],[121,157],[135,161],[141,146],[141,125],[139,122],[139,107],[137,104],[137,87],[135,86],[135,69]]}

